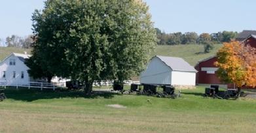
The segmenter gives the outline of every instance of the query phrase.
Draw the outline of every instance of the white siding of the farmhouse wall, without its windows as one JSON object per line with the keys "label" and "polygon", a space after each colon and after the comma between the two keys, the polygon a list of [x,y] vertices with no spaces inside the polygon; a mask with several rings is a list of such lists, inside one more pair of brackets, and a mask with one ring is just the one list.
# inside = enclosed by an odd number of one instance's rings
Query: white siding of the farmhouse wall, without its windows
{"label": "white siding of the farmhouse wall, without its windows", "polygon": [[[9,65],[10,59],[15,59],[15,65]],[[29,82],[29,75],[27,70],[29,68],[24,64],[24,62],[20,61],[18,57],[13,54],[10,55],[5,61],[0,63],[0,80],[7,81],[8,84],[17,84],[24,83],[27,84]],[[3,71],[6,72],[5,78],[3,78]],[[13,72],[15,71],[16,77],[13,78]],[[21,78],[21,73],[24,72],[24,78]]]}

